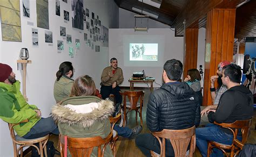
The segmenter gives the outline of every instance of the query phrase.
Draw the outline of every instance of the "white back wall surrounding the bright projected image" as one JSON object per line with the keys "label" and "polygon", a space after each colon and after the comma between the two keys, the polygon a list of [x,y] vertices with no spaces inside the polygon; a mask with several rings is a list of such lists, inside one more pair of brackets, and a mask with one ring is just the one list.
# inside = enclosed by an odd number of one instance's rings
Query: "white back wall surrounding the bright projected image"
{"label": "white back wall surrounding the bright projected image", "polygon": [[[161,35],[164,43],[164,59],[161,67],[124,67],[123,38],[124,35]],[[123,69],[124,82],[121,86],[130,86],[128,80],[133,72],[142,72],[144,69],[146,75],[156,78],[158,84],[162,84],[163,66],[167,60],[178,59],[183,62],[183,37],[174,37],[174,32],[170,28],[149,28],[148,32],[134,32],[134,29],[110,29],[109,31],[109,55],[110,58],[116,57],[118,66]],[[156,83],[153,87],[160,87]],[[136,83],[134,86],[147,87],[145,83]]]}

